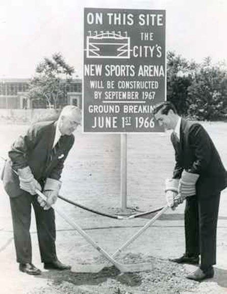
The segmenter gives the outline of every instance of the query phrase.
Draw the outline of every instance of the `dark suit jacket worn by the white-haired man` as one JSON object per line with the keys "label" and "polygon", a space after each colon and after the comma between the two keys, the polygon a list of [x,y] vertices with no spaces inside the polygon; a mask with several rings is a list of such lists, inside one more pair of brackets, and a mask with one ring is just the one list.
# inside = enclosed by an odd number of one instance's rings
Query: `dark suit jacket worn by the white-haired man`
{"label": "dark suit jacket worn by the white-haired man", "polygon": [[59,148],[53,152],[56,125],[57,122],[54,121],[33,124],[25,135],[13,143],[2,175],[4,188],[10,197],[23,193],[19,188],[18,176],[13,170],[30,166],[35,179],[41,185],[47,177],[60,179],[65,158],[74,143],[74,136],[63,136]]}

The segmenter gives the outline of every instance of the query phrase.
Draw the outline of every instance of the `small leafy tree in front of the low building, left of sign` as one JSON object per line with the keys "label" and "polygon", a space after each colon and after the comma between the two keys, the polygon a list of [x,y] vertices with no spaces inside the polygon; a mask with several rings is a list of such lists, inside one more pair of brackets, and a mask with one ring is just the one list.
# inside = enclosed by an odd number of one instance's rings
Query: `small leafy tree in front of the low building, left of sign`
{"label": "small leafy tree in front of the low building, left of sign", "polygon": [[69,66],[61,53],[55,53],[52,58],[44,58],[36,67],[36,74],[29,85],[29,98],[39,100],[56,109],[66,98],[66,88],[71,82],[74,68]]}

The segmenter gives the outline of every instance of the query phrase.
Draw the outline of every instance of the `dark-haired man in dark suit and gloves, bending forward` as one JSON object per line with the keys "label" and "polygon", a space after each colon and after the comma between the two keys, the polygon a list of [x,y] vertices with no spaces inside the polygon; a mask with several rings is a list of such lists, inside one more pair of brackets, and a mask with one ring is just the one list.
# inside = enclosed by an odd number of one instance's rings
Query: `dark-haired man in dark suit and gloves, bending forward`
{"label": "dark-haired man in dark suit and gloves, bending forward", "polygon": [[186,199],[186,251],[172,261],[196,264],[200,254],[199,268],[187,278],[196,281],[211,278],[216,263],[220,191],[227,186],[227,173],[203,126],[178,116],[170,102],[156,105],[154,115],[165,129],[173,130],[175,168],[173,178],[166,181],[167,202],[175,207]]}

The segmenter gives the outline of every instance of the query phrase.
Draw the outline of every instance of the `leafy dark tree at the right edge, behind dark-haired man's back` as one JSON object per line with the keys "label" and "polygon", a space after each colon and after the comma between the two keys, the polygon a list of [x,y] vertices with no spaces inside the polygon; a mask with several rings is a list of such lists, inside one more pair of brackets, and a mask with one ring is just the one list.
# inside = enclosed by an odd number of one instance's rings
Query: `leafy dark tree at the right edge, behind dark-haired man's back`
{"label": "leafy dark tree at the right edge, behind dark-haired man's back", "polygon": [[206,58],[188,87],[188,115],[199,120],[217,120],[227,116],[226,68]]}

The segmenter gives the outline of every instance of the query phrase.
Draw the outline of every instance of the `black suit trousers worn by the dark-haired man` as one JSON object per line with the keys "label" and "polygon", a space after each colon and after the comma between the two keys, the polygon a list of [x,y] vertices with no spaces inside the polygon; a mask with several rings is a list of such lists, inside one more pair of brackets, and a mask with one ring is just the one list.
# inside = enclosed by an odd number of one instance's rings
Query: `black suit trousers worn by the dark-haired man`
{"label": "black suit trousers worn by the dark-haired man", "polygon": [[188,256],[201,256],[201,266],[216,263],[216,235],[220,192],[200,199],[186,198],[185,244]]}

